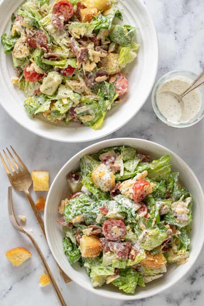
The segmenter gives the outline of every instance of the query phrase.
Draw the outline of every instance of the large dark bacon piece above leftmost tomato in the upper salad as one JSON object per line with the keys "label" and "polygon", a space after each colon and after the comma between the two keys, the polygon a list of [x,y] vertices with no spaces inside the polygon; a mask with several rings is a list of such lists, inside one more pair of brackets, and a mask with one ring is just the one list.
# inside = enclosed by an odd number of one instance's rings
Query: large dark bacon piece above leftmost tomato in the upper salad
{"label": "large dark bacon piece above leftmost tomato in the upper salad", "polygon": [[44,52],[51,52],[47,44],[47,37],[44,31],[31,29],[28,33],[27,44],[32,48],[40,48]]}

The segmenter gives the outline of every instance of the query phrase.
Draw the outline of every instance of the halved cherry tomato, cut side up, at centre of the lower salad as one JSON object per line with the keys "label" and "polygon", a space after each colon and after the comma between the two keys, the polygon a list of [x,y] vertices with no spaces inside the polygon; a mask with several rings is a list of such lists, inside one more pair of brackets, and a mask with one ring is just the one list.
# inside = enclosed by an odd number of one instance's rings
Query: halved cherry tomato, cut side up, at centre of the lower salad
{"label": "halved cherry tomato, cut side up, at centre of the lower salad", "polygon": [[109,219],[103,223],[103,234],[105,238],[115,241],[122,239],[126,234],[126,226],[122,220]]}

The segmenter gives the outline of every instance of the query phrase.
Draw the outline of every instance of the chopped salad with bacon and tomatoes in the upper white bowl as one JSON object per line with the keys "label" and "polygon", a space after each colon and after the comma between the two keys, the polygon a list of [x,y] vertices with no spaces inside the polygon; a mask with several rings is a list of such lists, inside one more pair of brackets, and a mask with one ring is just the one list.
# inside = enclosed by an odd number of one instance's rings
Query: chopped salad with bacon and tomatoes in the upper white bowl
{"label": "chopped salad with bacon and tomatoes in the upper white bowl", "polygon": [[30,116],[99,129],[128,91],[121,70],[137,56],[135,27],[110,0],[27,0],[2,35]]}

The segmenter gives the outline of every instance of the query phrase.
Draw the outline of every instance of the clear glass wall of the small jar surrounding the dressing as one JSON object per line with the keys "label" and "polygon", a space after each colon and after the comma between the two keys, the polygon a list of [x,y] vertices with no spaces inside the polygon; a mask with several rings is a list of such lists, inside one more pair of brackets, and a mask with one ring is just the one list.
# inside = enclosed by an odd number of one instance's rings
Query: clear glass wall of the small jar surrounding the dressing
{"label": "clear glass wall of the small jar surrounding the dressing", "polygon": [[169,121],[159,110],[158,104],[157,104],[157,92],[158,89],[163,85],[164,82],[169,81],[169,79],[175,78],[185,78],[189,80],[189,83],[192,83],[198,75],[194,72],[187,71],[187,70],[180,70],[180,71],[170,71],[161,77],[156,85],[153,88],[152,91],[152,106],[155,114],[158,116],[158,118],[166,123],[169,126],[174,126],[174,127],[188,127],[192,126],[198,121],[200,121],[203,116],[204,116],[204,85],[201,85],[198,87],[196,90],[198,91],[199,97],[200,97],[200,110],[197,112],[195,117],[193,117],[190,121],[184,122],[184,123],[174,123]]}

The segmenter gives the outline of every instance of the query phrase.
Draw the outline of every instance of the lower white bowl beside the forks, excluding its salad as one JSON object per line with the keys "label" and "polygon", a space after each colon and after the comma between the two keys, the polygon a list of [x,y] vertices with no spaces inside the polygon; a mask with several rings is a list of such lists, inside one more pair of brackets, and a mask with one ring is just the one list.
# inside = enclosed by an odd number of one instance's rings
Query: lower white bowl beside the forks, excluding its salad
{"label": "lower white bowl beside the forks, excluding its salad", "polygon": [[[165,154],[171,156],[171,164],[173,171],[180,172],[180,183],[185,186],[193,195],[193,222],[191,231],[191,252],[189,261],[183,265],[169,265],[167,273],[163,277],[150,282],[146,287],[136,287],[134,295],[128,295],[122,291],[117,290],[113,285],[105,285],[100,288],[93,288],[89,276],[86,274],[84,268],[80,268],[78,264],[71,266],[64,255],[62,248],[62,238],[64,233],[62,226],[60,226],[56,220],[59,218],[58,205],[62,199],[67,196],[68,187],[66,181],[67,173],[76,171],[80,168],[80,158],[84,154],[96,153],[102,148],[112,146],[132,146],[138,148],[139,152],[147,153],[153,158],[159,158]],[[52,255],[56,259],[62,270],[71,277],[71,279],[78,283],[80,286],[87,290],[96,293],[98,295],[114,298],[114,299],[139,299],[152,296],[160,293],[164,289],[167,289],[175,282],[177,282],[184,274],[189,271],[191,266],[198,257],[203,241],[204,241],[204,196],[201,185],[196,178],[196,175],[189,168],[189,166],[175,153],[169,149],[148,140],[136,139],[136,138],[116,138],[98,142],[83,149],[75,156],[73,156],[58,172],[54,179],[46,200],[45,207],[45,230],[46,237],[51,249]],[[179,286],[179,284],[178,284]]]}

